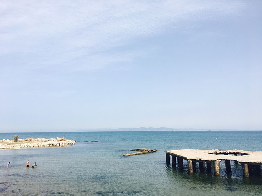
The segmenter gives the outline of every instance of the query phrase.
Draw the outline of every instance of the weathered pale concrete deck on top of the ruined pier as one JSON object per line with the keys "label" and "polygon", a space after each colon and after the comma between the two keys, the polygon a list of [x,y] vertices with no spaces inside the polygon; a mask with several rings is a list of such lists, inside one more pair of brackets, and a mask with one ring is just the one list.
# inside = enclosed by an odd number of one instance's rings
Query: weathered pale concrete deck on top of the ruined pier
{"label": "weathered pale concrete deck on top of the ruined pier", "polygon": [[[198,149],[183,149],[183,150],[171,150],[165,151],[168,154],[182,157],[183,159],[192,161],[222,161],[222,160],[233,160],[240,163],[253,163],[262,165],[262,151],[243,151],[243,150],[198,150]],[[211,153],[211,154],[210,154]],[[216,153],[216,154],[212,154]],[[224,154],[241,154],[242,156],[231,156]]]}

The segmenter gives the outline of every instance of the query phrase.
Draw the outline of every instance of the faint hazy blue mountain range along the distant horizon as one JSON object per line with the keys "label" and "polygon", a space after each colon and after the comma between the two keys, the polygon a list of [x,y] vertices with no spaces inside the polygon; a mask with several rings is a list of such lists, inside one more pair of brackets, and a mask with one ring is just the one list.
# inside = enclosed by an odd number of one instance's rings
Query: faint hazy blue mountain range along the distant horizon
{"label": "faint hazy blue mountain range along the distant horizon", "polygon": [[118,129],[83,129],[77,131],[236,131],[232,129],[174,129],[169,127],[139,127],[139,128],[118,128]]}

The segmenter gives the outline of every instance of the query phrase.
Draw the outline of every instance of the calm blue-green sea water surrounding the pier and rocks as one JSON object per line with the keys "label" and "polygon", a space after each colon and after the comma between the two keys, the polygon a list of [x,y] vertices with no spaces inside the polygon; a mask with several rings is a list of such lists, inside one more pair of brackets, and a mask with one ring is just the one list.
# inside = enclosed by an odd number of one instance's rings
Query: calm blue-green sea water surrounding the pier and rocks
{"label": "calm blue-green sea water surrounding the pier and rocks", "polygon": [[[166,165],[165,150],[262,151],[262,131],[43,132],[21,138],[65,137],[73,146],[0,150],[0,195],[261,195],[261,176],[242,177],[220,163],[220,176],[187,174]],[[11,139],[13,133],[0,133]],[[99,143],[84,141],[99,140]],[[124,157],[128,149],[158,152]],[[26,168],[27,160],[38,167]],[[6,165],[11,162],[10,168]]]}

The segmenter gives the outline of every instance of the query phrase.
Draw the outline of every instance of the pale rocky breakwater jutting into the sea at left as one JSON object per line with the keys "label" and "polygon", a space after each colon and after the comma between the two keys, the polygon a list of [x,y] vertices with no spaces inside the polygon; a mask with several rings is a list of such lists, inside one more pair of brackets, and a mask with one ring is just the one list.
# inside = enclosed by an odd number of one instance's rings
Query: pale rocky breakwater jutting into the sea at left
{"label": "pale rocky breakwater jutting into the sea at left", "polygon": [[19,139],[17,142],[14,140],[0,140],[0,149],[6,148],[34,148],[34,147],[46,147],[46,146],[66,146],[77,143],[74,140],[68,140],[66,138],[57,137],[56,139],[50,138],[27,138]]}

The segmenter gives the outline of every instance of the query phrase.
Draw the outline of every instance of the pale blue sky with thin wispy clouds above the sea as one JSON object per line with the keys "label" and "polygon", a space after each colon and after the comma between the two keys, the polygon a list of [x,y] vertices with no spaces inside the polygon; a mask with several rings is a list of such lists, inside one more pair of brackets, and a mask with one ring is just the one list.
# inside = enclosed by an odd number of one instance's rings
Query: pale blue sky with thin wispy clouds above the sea
{"label": "pale blue sky with thin wispy clouds above the sea", "polygon": [[0,0],[0,132],[262,130],[262,1]]}

